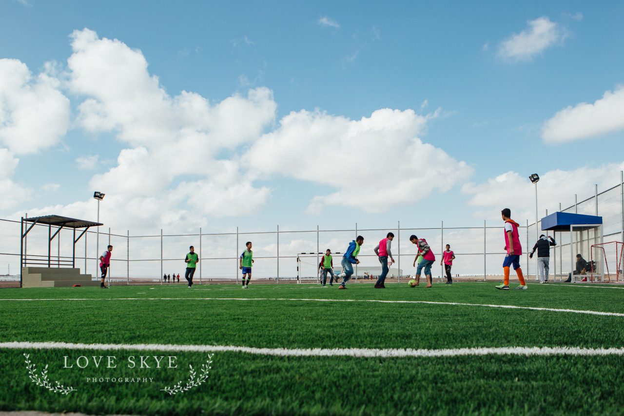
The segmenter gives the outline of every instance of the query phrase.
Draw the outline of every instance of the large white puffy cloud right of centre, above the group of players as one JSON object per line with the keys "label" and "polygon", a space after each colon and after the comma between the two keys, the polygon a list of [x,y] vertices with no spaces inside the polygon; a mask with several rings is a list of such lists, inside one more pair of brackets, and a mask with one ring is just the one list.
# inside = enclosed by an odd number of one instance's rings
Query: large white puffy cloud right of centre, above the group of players
{"label": "large white puffy cloud right of centre, above the group of players", "polygon": [[448,191],[472,174],[465,162],[419,139],[437,114],[381,109],[353,121],[320,111],[291,112],[253,144],[243,161],[259,175],[326,186],[328,193],[311,199],[309,214],[324,206],[383,212],[389,208],[383,201],[413,204],[432,189]]}

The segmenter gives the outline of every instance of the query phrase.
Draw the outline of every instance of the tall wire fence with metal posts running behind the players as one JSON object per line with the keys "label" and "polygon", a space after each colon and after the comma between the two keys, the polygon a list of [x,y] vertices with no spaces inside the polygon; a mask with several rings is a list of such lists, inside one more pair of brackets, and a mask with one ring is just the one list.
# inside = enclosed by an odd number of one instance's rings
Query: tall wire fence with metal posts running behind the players
{"label": "tall wire fence with metal posts running behind the players", "polygon": [[[624,241],[624,174],[620,172],[617,186],[606,191],[592,189],[593,196],[577,201],[568,207],[558,206],[562,212],[601,215],[603,217],[604,242]],[[585,192],[586,194],[590,192]],[[552,204],[552,202],[550,202]],[[553,211],[554,212],[554,211]],[[547,214],[544,212],[541,214]],[[550,212],[552,214],[552,212]],[[541,215],[540,215],[541,216]],[[0,286],[19,285],[20,273],[20,221],[0,219]],[[387,225],[387,224],[386,224]],[[391,279],[406,279],[414,275],[413,267],[416,247],[410,242],[410,235],[425,238],[436,254],[432,267],[434,277],[444,275],[440,264],[444,245],[450,244],[456,255],[451,273],[472,279],[499,279],[502,274],[503,250],[502,223],[475,227],[445,227],[444,221],[437,227],[411,227],[397,222],[384,229],[359,229],[357,224],[342,230],[284,230],[276,227],[271,231],[250,232],[236,229],[236,232],[214,233],[198,229],[196,234],[163,234],[162,230],[152,235],[132,235],[131,230],[115,233],[100,227],[99,233],[89,230],[76,245],[76,265],[83,273],[99,277],[98,257],[108,244],[114,246],[109,269],[112,284],[154,283],[163,281],[163,275],[180,274],[183,279],[183,259],[188,247],[193,245],[200,255],[200,262],[194,281],[238,282],[240,280],[239,256],[245,250],[245,243],[253,243],[253,280],[266,282],[315,281],[318,279],[318,264],[326,249],[344,253],[351,240],[357,235],[364,237],[364,245],[358,256],[360,264],[354,268],[354,279],[378,275],[381,265],[373,248],[387,232],[395,234],[392,254],[396,263],[391,266]],[[520,224],[520,239],[524,252],[528,254],[535,243],[536,224],[525,221]],[[540,222],[537,230],[541,229]],[[49,232],[55,227],[35,225],[24,239],[24,258],[29,262],[42,260],[47,267]],[[546,233],[544,233],[546,234]],[[555,278],[567,277],[572,265],[570,258],[575,253],[590,256],[590,247],[583,246],[583,240],[570,242],[570,233],[552,233],[557,246],[551,250],[550,273]],[[96,240],[99,253],[96,253]],[[62,229],[50,247],[51,267],[67,266],[71,260],[72,230]],[[339,269],[341,254],[334,255],[334,269]],[[536,279],[536,261],[522,257],[522,268],[529,279]],[[71,262],[71,261],[70,261]],[[173,283],[167,281],[167,283]],[[177,280],[175,280],[177,283]]]}

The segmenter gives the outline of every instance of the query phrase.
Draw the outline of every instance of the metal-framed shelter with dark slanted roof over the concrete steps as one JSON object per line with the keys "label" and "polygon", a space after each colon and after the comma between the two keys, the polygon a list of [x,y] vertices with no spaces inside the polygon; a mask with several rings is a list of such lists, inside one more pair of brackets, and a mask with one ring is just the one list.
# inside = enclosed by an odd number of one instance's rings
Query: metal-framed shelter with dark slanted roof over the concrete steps
{"label": "metal-framed shelter with dark slanted roof over the concrete steps", "polygon": [[[32,222],[29,226],[28,223]],[[45,259],[35,259],[34,261],[29,261],[24,254],[24,239],[26,235],[32,230],[32,227],[35,225],[47,225],[47,262]],[[90,227],[97,227],[101,224],[100,222],[93,222],[87,220],[79,220],[75,218],[63,217],[61,215],[44,215],[42,217],[22,217],[21,219],[21,238],[20,238],[20,249],[19,249],[19,287],[22,287],[22,267],[25,267],[27,264],[36,264],[36,265],[47,265],[47,267],[51,267],[52,265],[52,240],[56,237],[59,232],[61,232],[64,228],[69,228],[74,230],[74,243],[72,244],[72,259],[71,266],[76,267],[76,243],[80,240],[82,235],[87,232]],[[52,227],[58,227],[58,229],[52,234]],[[76,238],[76,229],[84,228],[78,238]],[[70,260],[57,260],[57,264],[59,267],[61,266],[61,262],[64,262],[69,265]]]}

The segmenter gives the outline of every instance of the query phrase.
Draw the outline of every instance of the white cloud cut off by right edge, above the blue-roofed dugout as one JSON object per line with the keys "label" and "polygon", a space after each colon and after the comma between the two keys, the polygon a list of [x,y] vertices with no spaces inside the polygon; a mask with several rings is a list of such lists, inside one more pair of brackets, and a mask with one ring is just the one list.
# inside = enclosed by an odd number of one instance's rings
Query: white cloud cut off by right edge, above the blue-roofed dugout
{"label": "white cloud cut off by right edge, above the blue-roofed dugout", "polygon": [[542,138],[562,143],[624,129],[624,86],[607,91],[602,98],[558,111],[542,127]]}

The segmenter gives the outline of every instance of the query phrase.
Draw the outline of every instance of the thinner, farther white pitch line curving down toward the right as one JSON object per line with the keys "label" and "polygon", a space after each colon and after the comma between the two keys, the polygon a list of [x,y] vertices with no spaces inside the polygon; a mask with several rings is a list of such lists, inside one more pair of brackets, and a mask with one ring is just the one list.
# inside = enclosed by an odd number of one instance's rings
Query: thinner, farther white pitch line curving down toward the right
{"label": "thinner, farther white pitch line curving down toward the right", "polygon": [[542,310],[547,312],[565,312],[570,314],[585,314],[585,315],[602,315],[602,316],[617,316],[624,317],[620,312],[601,312],[598,310],[578,310],[578,309],[555,309],[555,308],[542,308],[535,306],[516,306],[516,305],[490,305],[490,304],[464,304],[459,302],[432,302],[430,300],[374,300],[374,299],[296,299],[296,298],[271,298],[271,297],[116,297],[116,298],[47,298],[47,299],[0,299],[0,302],[37,302],[37,301],[78,301],[78,302],[100,302],[104,300],[240,300],[240,301],[253,301],[253,300],[280,300],[287,302],[373,302],[380,304],[427,304],[427,305],[456,305],[456,306],[474,306],[474,307],[488,307],[488,308],[501,308],[501,309],[525,309],[525,310]]}

